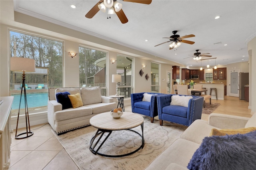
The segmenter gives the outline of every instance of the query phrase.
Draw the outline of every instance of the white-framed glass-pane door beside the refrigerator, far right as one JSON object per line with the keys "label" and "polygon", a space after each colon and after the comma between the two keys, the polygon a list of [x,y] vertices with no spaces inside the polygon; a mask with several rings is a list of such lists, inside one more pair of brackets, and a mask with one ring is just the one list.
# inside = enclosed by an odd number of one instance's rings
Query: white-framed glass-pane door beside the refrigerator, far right
{"label": "white-framed glass-pane door beside the refrigerator, far right", "polygon": [[239,97],[238,75],[239,70],[230,71],[229,96]]}

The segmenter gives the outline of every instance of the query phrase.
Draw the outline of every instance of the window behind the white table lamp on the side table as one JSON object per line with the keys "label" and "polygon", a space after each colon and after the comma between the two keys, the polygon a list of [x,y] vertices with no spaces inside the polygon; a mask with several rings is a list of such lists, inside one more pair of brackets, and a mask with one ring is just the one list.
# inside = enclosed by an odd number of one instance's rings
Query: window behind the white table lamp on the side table
{"label": "window behind the white table lamp on the side table", "polygon": [[132,58],[117,55],[116,72],[121,74],[122,82],[118,83],[118,94],[130,98],[132,93]]}

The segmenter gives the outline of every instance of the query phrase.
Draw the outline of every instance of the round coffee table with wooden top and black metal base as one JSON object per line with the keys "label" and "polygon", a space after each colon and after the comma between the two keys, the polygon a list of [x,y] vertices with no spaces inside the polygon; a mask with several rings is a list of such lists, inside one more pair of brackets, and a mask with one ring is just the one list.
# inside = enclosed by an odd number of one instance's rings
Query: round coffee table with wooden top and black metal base
{"label": "round coffee table with wooden top and black metal base", "polygon": [[[99,154],[101,156],[106,156],[106,157],[122,157],[122,156],[127,156],[127,155],[137,152],[138,150],[140,150],[144,147],[144,143],[145,143],[144,136],[143,136],[143,121],[144,121],[144,118],[141,115],[138,115],[136,113],[127,112],[127,111],[123,112],[123,115],[120,117],[120,119],[113,119],[113,117],[110,115],[110,112],[100,113],[98,115],[95,115],[94,117],[92,117],[90,119],[90,124],[93,127],[98,128],[98,131],[96,132],[96,134],[92,137],[92,139],[90,141],[90,151],[93,154]],[[132,128],[137,127],[139,125],[141,126],[142,134],[132,130]],[[99,152],[100,148],[102,147],[104,142],[108,139],[108,137],[110,136],[112,131],[120,131],[120,130],[128,130],[128,131],[132,131],[132,132],[140,135],[140,137],[142,138],[141,146],[138,149],[136,149],[130,153],[127,153],[127,154],[108,155],[108,154],[100,153]],[[104,133],[108,133],[108,135],[105,137],[105,139],[102,141],[102,143],[99,143],[100,139],[102,137],[104,137],[103,136]],[[94,143],[94,140],[96,139],[96,137],[98,135],[100,135],[100,137]],[[96,149],[96,146],[98,146],[97,149]]]}

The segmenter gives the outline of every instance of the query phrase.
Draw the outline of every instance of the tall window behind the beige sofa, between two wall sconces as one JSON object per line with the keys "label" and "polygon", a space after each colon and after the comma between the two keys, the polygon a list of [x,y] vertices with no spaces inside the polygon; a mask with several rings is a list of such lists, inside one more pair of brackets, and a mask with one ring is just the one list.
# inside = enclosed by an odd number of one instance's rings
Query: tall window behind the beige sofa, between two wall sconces
{"label": "tall window behind the beige sofa, between two wall sconces", "polygon": [[80,86],[100,86],[102,96],[106,96],[106,57],[104,51],[79,47]]}

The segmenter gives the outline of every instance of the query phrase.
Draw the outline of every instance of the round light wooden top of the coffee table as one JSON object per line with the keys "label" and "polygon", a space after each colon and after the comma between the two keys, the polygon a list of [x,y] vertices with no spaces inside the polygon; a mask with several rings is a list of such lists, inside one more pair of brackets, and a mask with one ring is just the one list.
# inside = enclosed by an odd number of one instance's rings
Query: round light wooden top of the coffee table
{"label": "round light wooden top of the coffee table", "polygon": [[136,113],[124,111],[120,119],[113,119],[110,112],[100,113],[90,119],[90,124],[98,129],[125,130],[141,125],[144,118]]}

